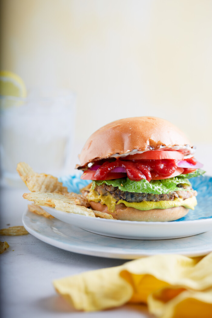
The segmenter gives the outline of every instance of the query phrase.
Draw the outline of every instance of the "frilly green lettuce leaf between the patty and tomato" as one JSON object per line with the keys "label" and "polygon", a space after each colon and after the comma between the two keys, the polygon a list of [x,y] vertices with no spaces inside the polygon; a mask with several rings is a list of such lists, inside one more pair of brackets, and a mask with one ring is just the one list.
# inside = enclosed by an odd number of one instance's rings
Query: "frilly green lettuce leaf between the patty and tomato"
{"label": "frilly green lettuce leaf between the patty and tomato", "polygon": [[172,191],[183,190],[188,191],[187,189],[179,189],[177,184],[184,183],[191,185],[188,179],[201,176],[205,171],[203,170],[196,170],[195,172],[188,173],[186,175],[179,175],[169,179],[162,179],[162,180],[151,180],[148,182],[145,179],[140,181],[132,181],[128,177],[114,179],[114,180],[95,180],[93,181],[92,188],[95,188],[95,183],[97,185],[101,185],[106,183],[108,185],[112,185],[113,187],[118,187],[122,191],[128,192],[137,192],[137,193],[153,193],[153,194],[162,194],[162,193],[169,193]]}

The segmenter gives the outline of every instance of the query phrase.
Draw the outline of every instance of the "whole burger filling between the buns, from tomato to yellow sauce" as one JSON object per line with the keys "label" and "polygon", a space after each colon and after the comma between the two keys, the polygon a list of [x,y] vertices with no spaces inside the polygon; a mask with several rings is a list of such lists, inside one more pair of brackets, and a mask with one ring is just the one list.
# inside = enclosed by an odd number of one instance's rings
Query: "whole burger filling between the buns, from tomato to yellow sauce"
{"label": "whole burger filling between the buns, from tomato to yellow sauce", "polygon": [[177,151],[149,151],[124,158],[106,158],[85,167],[82,179],[93,180],[86,189],[89,202],[118,204],[137,210],[184,206],[194,210],[197,192],[190,178],[200,176],[202,164]]}

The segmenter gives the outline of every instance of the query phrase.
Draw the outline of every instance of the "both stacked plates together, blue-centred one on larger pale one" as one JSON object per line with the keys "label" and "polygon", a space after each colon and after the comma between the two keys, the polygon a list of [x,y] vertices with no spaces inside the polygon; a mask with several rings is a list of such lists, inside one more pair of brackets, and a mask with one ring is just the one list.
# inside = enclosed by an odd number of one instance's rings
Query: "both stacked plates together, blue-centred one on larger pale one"
{"label": "both stacked plates together, blue-centred one on larger pale one", "polygon": [[[135,259],[166,253],[205,255],[212,251],[212,177],[193,179],[190,181],[198,192],[198,204],[194,211],[189,210],[184,218],[176,221],[89,218],[45,207],[55,218],[46,219],[26,211],[24,227],[48,244],[93,256]],[[76,175],[61,181],[70,192],[79,192],[87,184]]]}

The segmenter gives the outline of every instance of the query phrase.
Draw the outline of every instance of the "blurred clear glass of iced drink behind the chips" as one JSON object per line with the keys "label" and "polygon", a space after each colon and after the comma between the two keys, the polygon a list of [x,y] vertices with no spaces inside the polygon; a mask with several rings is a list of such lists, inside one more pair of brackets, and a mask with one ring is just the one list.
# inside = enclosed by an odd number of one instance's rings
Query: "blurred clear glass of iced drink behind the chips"
{"label": "blurred clear glass of iced drink behind the chips", "polygon": [[0,97],[1,184],[19,185],[18,162],[54,176],[69,173],[75,123],[75,94],[31,90],[27,98]]}

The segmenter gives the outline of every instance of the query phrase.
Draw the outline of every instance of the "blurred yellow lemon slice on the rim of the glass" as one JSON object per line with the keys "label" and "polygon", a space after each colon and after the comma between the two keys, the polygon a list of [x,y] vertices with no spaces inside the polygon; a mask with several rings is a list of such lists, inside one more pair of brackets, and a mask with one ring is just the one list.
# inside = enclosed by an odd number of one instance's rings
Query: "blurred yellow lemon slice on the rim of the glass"
{"label": "blurred yellow lemon slice on the rim of the glass", "polygon": [[0,95],[26,97],[26,86],[17,74],[0,71]]}

